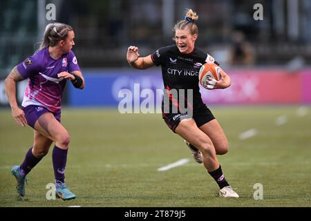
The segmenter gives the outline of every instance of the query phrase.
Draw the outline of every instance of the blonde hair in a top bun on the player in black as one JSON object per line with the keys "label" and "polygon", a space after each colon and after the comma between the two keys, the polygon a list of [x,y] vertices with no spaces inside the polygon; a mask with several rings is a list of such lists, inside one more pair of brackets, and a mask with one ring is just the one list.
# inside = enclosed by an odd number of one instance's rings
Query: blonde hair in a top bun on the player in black
{"label": "blonde hair in a top bun on the player in black", "polygon": [[173,32],[176,30],[185,30],[189,28],[191,35],[198,35],[198,26],[196,26],[196,21],[198,21],[198,15],[191,8],[186,9],[185,19],[178,21],[173,28]]}

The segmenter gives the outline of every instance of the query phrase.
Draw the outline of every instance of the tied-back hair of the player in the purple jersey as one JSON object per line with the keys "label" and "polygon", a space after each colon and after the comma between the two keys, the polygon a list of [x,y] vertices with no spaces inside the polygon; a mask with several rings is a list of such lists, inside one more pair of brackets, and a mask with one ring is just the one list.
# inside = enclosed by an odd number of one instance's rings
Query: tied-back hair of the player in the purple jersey
{"label": "tied-back hair of the player in the purple jersey", "polygon": [[44,39],[41,42],[39,50],[47,46],[56,46],[59,41],[65,40],[68,36],[68,31],[73,28],[66,23],[49,23],[44,31]]}

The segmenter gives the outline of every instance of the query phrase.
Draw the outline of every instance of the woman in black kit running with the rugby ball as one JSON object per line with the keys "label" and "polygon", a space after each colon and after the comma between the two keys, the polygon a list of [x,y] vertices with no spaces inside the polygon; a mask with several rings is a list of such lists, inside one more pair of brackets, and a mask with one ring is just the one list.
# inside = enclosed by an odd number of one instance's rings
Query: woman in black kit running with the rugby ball
{"label": "woman in black kit running with the rugby ball", "polygon": [[[213,57],[195,46],[198,38],[198,15],[191,9],[186,17],[174,26],[176,44],[156,50],[147,57],[140,57],[138,47],[130,46],[126,59],[133,68],[147,69],[151,66],[162,66],[164,96],[169,102],[162,102],[162,116],[174,133],[184,138],[191,148],[197,162],[203,162],[208,173],[220,187],[219,196],[238,198],[238,194],[225,180],[216,154],[223,155],[228,151],[228,142],[223,129],[209,108],[202,102],[198,86],[198,72],[205,63],[218,64]],[[209,81],[209,89],[227,88],[231,79],[225,72],[220,73],[220,80]],[[174,97],[171,91],[184,90],[184,96]],[[192,96],[191,96],[192,95]],[[190,97],[192,99],[190,99]],[[180,103],[183,99],[182,103]],[[189,102],[191,101],[191,102]],[[167,103],[167,104],[166,104]],[[191,115],[181,111],[181,104],[187,104]],[[169,106],[169,111],[167,111]],[[178,111],[173,111],[173,106]],[[176,110],[175,109],[175,110]]]}

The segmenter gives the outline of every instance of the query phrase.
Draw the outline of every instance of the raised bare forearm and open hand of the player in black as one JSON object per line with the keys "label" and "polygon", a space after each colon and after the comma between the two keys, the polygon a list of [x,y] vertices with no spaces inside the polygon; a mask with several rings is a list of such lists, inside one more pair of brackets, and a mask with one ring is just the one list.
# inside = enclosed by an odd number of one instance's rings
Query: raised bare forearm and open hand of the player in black
{"label": "raised bare forearm and open hand of the player in black", "polygon": [[126,53],[126,60],[133,68],[136,69],[147,69],[154,66],[151,55],[148,55],[147,57],[140,57],[138,47],[136,46],[129,46]]}

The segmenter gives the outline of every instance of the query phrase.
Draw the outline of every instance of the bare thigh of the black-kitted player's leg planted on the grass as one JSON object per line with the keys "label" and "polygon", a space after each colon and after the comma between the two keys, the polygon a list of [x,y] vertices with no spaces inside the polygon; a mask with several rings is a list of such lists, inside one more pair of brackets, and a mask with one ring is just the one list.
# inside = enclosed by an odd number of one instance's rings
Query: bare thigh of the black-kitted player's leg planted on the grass
{"label": "bare thigh of the black-kitted player's leg planted on the grass", "polygon": [[202,148],[209,148],[213,145],[208,135],[196,126],[194,119],[182,120],[176,127],[175,133],[196,146],[200,151]]}

